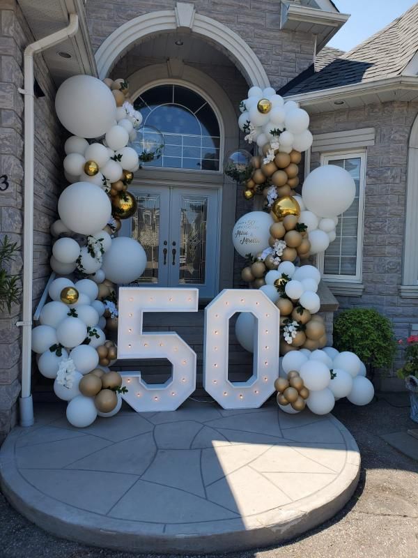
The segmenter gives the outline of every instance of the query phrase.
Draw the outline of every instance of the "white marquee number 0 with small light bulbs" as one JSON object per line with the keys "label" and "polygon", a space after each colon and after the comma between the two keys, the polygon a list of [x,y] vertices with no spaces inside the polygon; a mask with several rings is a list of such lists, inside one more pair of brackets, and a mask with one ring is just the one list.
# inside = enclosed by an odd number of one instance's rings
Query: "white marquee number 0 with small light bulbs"
{"label": "white marquee number 0 with small light bulbs", "polygon": [[[247,382],[228,379],[229,319],[235,312],[257,318],[253,375]],[[274,393],[279,322],[279,309],[258,289],[225,289],[206,306],[203,387],[224,409],[256,409]]]}

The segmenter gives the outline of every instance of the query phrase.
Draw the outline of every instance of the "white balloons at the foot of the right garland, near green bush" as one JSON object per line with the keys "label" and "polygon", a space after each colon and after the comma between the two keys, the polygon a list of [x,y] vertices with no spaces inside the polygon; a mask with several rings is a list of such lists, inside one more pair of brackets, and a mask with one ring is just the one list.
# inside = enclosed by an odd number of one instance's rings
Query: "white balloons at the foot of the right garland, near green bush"
{"label": "white balloons at the foot of the right garland, near green bush", "polygon": [[[373,399],[373,384],[366,378],[366,367],[352,352],[338,352],[333,347],[316,351],[300,349],[281,359],[280,376],[295,370],[309,389],[307,406],[315,414],[332,411],[336,400],[346,397],[353,405],[367,405]],[[279,405],[294,414],[291,405]]]}

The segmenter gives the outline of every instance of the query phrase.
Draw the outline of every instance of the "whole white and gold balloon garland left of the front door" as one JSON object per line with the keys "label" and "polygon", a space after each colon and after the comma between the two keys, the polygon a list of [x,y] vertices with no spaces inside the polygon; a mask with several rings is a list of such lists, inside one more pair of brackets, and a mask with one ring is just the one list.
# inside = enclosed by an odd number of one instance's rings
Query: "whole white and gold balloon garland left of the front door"
{"label": "whole white and gold balloon garland left of the front door", "polygon": [[49,287],[51,301],[32,331],[32,349],[41,374],[54,379],[56,395],[68,401],[68,421],[84,428],[121,408],[125,388],[109,368],[117,348],[105,330],[118,327],[115,285],[139,278],[146,254],[136,240],[114,234],[137,211],[128,191],[134,172],[161,156],[164,139],[140,126],[142,116],[123,79],[72,76],[59,87],[55,106],[72,133],[63,160],[70,184],[59,196],[59,220],[51,227],[50,265],[65,277]]}

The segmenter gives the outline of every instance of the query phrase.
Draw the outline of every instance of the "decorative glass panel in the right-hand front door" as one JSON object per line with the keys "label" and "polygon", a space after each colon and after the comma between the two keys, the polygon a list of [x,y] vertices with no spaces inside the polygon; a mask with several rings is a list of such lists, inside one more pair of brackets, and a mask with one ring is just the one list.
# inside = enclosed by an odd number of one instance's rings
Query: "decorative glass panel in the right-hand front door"
{"label": "decorative glass panel in the right-hand front door", "polygon": [[180,285],[201,285],[205,282],[207,213],[207,197],[181,196]]}

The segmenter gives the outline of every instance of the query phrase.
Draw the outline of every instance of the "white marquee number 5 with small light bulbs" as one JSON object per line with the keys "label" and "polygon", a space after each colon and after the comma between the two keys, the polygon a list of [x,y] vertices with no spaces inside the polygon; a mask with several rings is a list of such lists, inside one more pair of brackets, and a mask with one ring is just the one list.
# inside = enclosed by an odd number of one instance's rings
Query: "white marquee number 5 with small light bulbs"
{"label": "white marquee number 5 with small light bulbs", "polygon": [[168,359],[173,374],[146,384],[141,372],[123,372],[123,399],[137,412],[175,411],[196,389],[196,353],[175,332],[142,332],[144,312],[197,312],[198,289],[121,287],[118,359]]}

